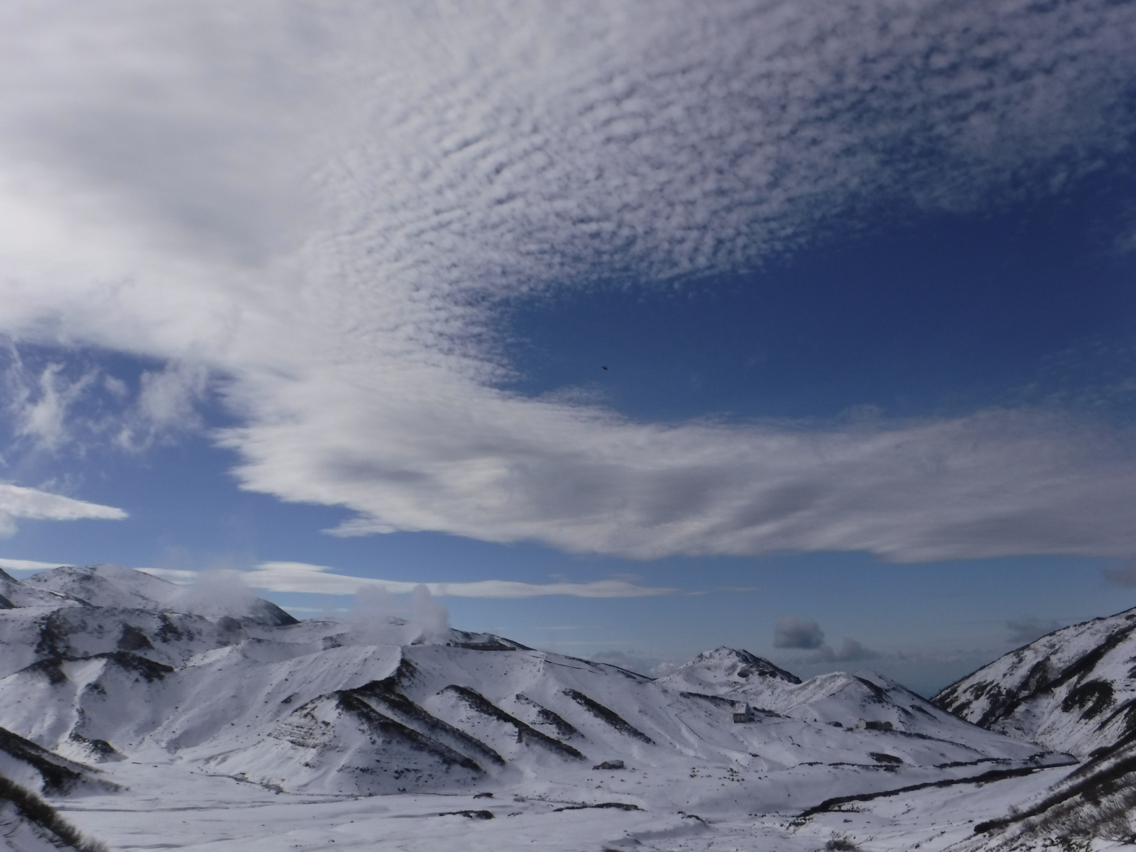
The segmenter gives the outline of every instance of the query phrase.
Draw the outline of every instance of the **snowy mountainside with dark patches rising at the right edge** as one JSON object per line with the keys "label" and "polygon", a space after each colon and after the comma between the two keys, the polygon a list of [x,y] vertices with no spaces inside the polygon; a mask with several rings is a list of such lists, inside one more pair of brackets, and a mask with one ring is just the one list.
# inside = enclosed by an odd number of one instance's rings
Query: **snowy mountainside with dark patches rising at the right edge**
{"label": "snowy mountainside with dark patches rising at the right edge", "polygon": [[1136,609],[1064,627],[932,699],[989,730],[1080,757],[1136,741]]}

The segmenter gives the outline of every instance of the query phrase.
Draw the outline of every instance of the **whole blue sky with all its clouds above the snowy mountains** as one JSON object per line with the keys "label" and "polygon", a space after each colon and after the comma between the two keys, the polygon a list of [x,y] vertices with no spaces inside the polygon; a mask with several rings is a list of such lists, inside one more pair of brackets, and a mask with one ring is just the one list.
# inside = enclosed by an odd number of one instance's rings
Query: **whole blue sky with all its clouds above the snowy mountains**
{"label": "whole blue sky with all its clouds above the snowy mountains", "polygon": [[6,570],[925,694],[1136,605],[1136,3],[0,16]]}

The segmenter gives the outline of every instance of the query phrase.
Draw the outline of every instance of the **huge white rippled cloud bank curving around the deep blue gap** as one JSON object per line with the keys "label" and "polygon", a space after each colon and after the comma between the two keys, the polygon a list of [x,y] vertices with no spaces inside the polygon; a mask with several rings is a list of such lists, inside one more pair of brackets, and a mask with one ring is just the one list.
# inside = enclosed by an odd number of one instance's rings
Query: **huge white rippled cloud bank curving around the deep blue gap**
{"label": "huge white rippled cloud bank curving around the deep blue gap", "polygon": [[499,390],[493,345],[506,299],[750,269],[868,214],[1076,181],[1136,130],[1130,3],[0,16],[0,332],[208,370],[242,485],[354,510],[339,534],[1136,552],[1126,436],[1071,415],[633,423]]}

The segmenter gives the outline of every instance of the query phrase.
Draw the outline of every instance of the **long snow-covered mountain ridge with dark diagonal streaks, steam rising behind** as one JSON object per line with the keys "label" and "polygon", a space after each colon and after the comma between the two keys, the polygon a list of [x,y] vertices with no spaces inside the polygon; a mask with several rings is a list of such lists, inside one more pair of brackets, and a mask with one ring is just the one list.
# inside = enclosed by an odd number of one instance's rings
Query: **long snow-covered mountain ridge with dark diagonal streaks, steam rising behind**
{"label": "long snow-covered mountain ridge with dark diagonal streaks, steam rising behind", "polygon": [[[300,623],[112,566],[9,577],[5,591],[0,727],[73,761],[176,755],[279,790],[371,794],[594,786],[593,767],[617,760],[657,793],[676,771],[724,766],[754,780],[797,769],[830,790],[1046,760],[879,675],[801,683],[730,649],[651,680],[488,634],[425,642],[400,619]],[[735,724],[742,702],[753,720]],[[678,795],[705,807],[742,793]],[[792,795],[766,785],[762,801]]]}

